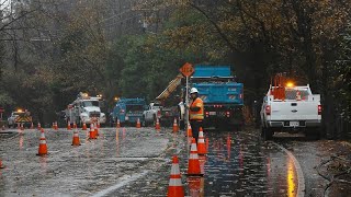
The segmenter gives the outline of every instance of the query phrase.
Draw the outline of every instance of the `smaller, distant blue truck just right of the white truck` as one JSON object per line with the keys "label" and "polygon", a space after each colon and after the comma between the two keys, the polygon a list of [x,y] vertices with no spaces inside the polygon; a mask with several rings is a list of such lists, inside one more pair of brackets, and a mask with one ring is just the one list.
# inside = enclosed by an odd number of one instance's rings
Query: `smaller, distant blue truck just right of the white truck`
{"label": "smaller, distant blue truck just right of the white truck", "polygon": [[111,123],[120,120],[122,125],[135,125],[138,118],[143,123],[145,105],[145,99],[120,99],[110,115]]}

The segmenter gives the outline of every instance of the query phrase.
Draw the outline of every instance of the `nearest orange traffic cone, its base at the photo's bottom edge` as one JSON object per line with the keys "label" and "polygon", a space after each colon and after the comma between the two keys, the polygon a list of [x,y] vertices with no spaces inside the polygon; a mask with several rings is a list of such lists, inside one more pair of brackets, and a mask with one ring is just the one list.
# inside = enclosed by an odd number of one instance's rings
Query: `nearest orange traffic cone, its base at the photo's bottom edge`
{"label": "nearest orange traffic cone, its base at the photo's bottom edge", "polygon": [[179,170],[179,161],[178,157],[173,155],[172,169],[171,169],[171,177],[169,179],[168,186],[168,197],[183,197],[184,188],[182,186],[182,179]]}

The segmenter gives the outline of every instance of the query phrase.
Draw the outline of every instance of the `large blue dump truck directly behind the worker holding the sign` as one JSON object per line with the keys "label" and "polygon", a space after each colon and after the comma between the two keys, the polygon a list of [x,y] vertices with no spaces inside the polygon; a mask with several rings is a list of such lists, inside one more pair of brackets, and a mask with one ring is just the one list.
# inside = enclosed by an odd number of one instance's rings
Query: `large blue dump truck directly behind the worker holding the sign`
{"label": "large blue dump truck directly behind the worker holding the sign", "polygon": [[236,82],[230,66],[195,66],[190,82],[204,102],[204,127],[244,126],[244,84]]}

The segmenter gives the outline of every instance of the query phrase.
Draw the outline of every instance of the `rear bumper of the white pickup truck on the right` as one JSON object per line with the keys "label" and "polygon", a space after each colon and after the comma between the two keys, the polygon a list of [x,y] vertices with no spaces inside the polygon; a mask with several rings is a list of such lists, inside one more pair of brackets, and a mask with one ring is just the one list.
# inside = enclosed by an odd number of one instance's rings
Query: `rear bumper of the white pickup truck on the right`
{"label": "rear bumper of the white pickup truck on the right", "polygon": [[308,127],[320,127],[321,120],[271,120],[267,121],[268,127],[274,128],[308,128]]}

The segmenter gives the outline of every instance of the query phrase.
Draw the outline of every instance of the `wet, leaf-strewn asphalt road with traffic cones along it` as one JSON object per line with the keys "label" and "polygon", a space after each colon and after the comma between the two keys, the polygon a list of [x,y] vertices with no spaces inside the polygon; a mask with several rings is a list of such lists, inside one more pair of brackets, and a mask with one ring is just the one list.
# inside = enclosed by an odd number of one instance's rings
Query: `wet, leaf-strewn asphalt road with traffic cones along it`
{"label": "wet, leaf-strewn asphalt road with traffic cones along it", "polygon": [[[262,142],[256,129],[205,130],[205,175],[195,178],[185,175],[190,144],[182,131],[104,128],[98,140],[88,140],[88,132],[80,131],[82,146],[76,148],[70,146],[71,136],[66,129],[47,129],[47,157],[35,155],[36,130],[0,136],[5,165],[0,170],[0,196],[166,196],[173,154],[179,155],[186,196],[296,196],[302,178],[292,158],[275,143]],[[299,162],[305,196],[322,196],[327,184],[315,166],[331,152],[351,149],[322,140],[274,141]],[[330,196],[338,194],[343,195],[332,190]]]}

